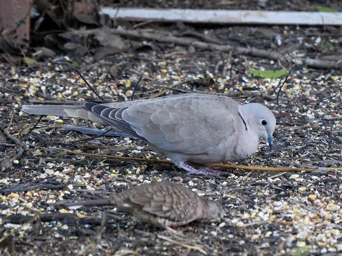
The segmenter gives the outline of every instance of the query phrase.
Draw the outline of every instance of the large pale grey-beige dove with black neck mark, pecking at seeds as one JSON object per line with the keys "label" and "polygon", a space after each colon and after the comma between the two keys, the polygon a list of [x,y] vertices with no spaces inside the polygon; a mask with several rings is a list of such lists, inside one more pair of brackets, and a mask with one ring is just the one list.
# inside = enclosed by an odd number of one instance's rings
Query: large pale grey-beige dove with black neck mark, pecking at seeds
{"label": "large pale grey-beige dove with black neck mark, pecking at seeds", "polygon": [[236,161],[257,151],[260,138],[273,147],[276,119],[259,103],[240,105],[227,96],[183,94],[83,105],[23,105],[29,114],[70,116],[113,125],[146,141],[189,173],[224,174],[195,164]]}

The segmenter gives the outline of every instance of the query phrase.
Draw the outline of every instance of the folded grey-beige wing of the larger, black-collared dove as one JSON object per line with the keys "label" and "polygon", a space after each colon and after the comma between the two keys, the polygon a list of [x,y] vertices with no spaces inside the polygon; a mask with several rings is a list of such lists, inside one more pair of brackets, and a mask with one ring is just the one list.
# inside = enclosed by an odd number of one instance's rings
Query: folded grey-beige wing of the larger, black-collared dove
{"label": "folded grey-beige wing of the larger, black-collared dove", "polygon": [[[87,106],[87,104],[89,104]],[[84,103],[110,125],[165,151],[207,153],[234,133],[238,103],[228,97],[188,94],[118,103]]]}

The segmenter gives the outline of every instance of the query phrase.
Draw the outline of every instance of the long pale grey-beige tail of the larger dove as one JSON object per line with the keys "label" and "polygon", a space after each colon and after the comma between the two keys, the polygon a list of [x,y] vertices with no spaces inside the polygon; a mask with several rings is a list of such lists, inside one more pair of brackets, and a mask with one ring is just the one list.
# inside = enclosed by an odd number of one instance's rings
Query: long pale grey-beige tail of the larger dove
{"label": "long pale grey-beige tail of the larger dove", "polygon": [[96,123],[107,124],[92,112],[83,108],[82,105],[23,105],[22,111],[34,115],[80,117]]}

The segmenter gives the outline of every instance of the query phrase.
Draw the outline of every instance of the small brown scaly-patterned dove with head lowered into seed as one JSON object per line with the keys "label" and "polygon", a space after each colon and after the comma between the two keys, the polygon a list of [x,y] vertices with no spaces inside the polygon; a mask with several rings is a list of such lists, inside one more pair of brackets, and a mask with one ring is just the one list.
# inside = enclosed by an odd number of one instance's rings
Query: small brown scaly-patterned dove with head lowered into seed
{"label": "small brown scaly-patterned dove with head lowered into seed", "polygon": [[160,228],[182,226],[199,219],[219,218],[222,207],[191,189],[169,181],[152,182],[100,200],[63,204],[69,209],[92,205],[126,208],[137,219]]}

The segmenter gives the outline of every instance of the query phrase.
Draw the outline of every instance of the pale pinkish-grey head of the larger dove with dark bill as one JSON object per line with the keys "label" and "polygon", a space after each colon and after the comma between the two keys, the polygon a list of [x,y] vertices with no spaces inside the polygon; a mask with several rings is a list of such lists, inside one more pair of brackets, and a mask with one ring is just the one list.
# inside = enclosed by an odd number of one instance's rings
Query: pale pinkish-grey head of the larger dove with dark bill
{"label": "pale pinkish-grey head of the larger dove with dark bill", "polygon": [[276,128],[276,118],[271,110],[259,103],[248,103],[239,105],[238,112],[245,122],[247,131],[253,132],[259,138],[265,138],[269,148],[272,149],[272,134]]}

